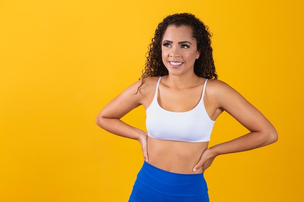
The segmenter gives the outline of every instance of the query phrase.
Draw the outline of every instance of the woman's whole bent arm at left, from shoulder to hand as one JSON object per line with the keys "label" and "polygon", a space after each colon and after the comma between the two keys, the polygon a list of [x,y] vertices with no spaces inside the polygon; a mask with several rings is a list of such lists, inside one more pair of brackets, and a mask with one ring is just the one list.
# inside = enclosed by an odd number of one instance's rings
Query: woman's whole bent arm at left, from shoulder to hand
{"label": "woman's whole bent arm at left, from shoulder to hand", "polygon": [[148,133],[124,123],[121,121],[121,118],[131,110],[143,105],[143,103],[151,102],[158,78],[155,77],[151,79],[151,81],[149,81],[149,79],[145,81],[140,91],[138,91],[138,86],[141,84],[141,80],[136,81],[111,100],[96,117],[96,124],[106,131],[121,137],[138,140],[146,162],[148,162]]}

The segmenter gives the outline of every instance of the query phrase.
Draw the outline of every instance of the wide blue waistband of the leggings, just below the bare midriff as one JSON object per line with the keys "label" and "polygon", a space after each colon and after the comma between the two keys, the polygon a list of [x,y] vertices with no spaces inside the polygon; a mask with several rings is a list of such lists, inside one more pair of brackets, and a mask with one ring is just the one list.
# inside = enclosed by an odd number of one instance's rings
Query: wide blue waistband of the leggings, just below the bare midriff
{"label": "wide blue waistband of the leggings, just below the bare midriff", "polygon": [[164,171],[144,162],[137,181],[162,194],[179,197],[199,196],[208,192],[203,173],[181,174]]}

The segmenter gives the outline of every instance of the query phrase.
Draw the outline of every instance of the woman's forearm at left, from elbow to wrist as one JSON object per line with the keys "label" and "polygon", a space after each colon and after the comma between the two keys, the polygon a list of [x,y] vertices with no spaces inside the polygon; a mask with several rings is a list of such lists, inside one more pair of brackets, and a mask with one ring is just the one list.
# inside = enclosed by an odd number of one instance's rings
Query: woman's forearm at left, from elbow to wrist
{"label": "woman's forearm at left, from elbow to wrist", "polygon": [[145,132],[141,129],[126,124],[120,119],[116,118],[98,117],[96,119],[96,124],[110,133],[134,140],[139,140],[139,138],[145,134]]}

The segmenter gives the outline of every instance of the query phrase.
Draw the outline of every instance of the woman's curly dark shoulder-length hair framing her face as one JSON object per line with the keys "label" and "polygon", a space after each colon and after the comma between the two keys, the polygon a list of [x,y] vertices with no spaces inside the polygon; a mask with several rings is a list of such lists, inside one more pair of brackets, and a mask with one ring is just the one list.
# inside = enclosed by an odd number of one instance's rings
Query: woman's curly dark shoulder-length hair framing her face
{"label": "woman's curly dark shoulder-length hair framing her face", "polygon": [[198,77],[217,79],[218,75],[215,71],[215,65],[212,56],[211,36],[208,26],[190,13],[174,14],[165,17],[165,19],[158,24],[155,30],[152,42],[149,45],[149,51],[146,54],[146,65],[142,72],[142,83],[138,89],[143,85],[144,79],[147,77],[159,77],[168,75],[169,72],[162,62],[162,40],[164,33],[169,25],[176,27],[188,26],[193,31],[193,38],[197,41],[197,49],[201,52],[200,58],[194,63],[194,73]]}

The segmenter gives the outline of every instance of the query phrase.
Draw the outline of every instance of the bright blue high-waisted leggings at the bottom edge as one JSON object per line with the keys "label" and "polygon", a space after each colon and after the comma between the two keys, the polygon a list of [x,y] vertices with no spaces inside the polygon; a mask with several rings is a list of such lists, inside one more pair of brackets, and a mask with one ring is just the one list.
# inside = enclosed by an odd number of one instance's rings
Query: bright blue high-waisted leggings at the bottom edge
{"label": "bright blue high-waisted leggings at the bottom edge", "polygon": [[144,162],[129,202],[209,202],[208,188],[203,173],[173,173]]}

